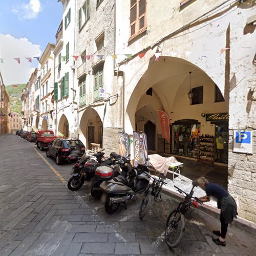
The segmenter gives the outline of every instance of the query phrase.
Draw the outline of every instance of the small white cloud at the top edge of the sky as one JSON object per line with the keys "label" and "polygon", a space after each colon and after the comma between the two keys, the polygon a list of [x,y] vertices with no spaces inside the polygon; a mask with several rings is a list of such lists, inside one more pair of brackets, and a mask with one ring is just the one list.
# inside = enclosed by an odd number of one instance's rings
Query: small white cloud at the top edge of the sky
{"label": "small white cloud at the top edge of the sky", "polygon": [[29,0],[27,3],[12,7],[12,12],[20,19],[34,19],[41,10],[40,0]]}

